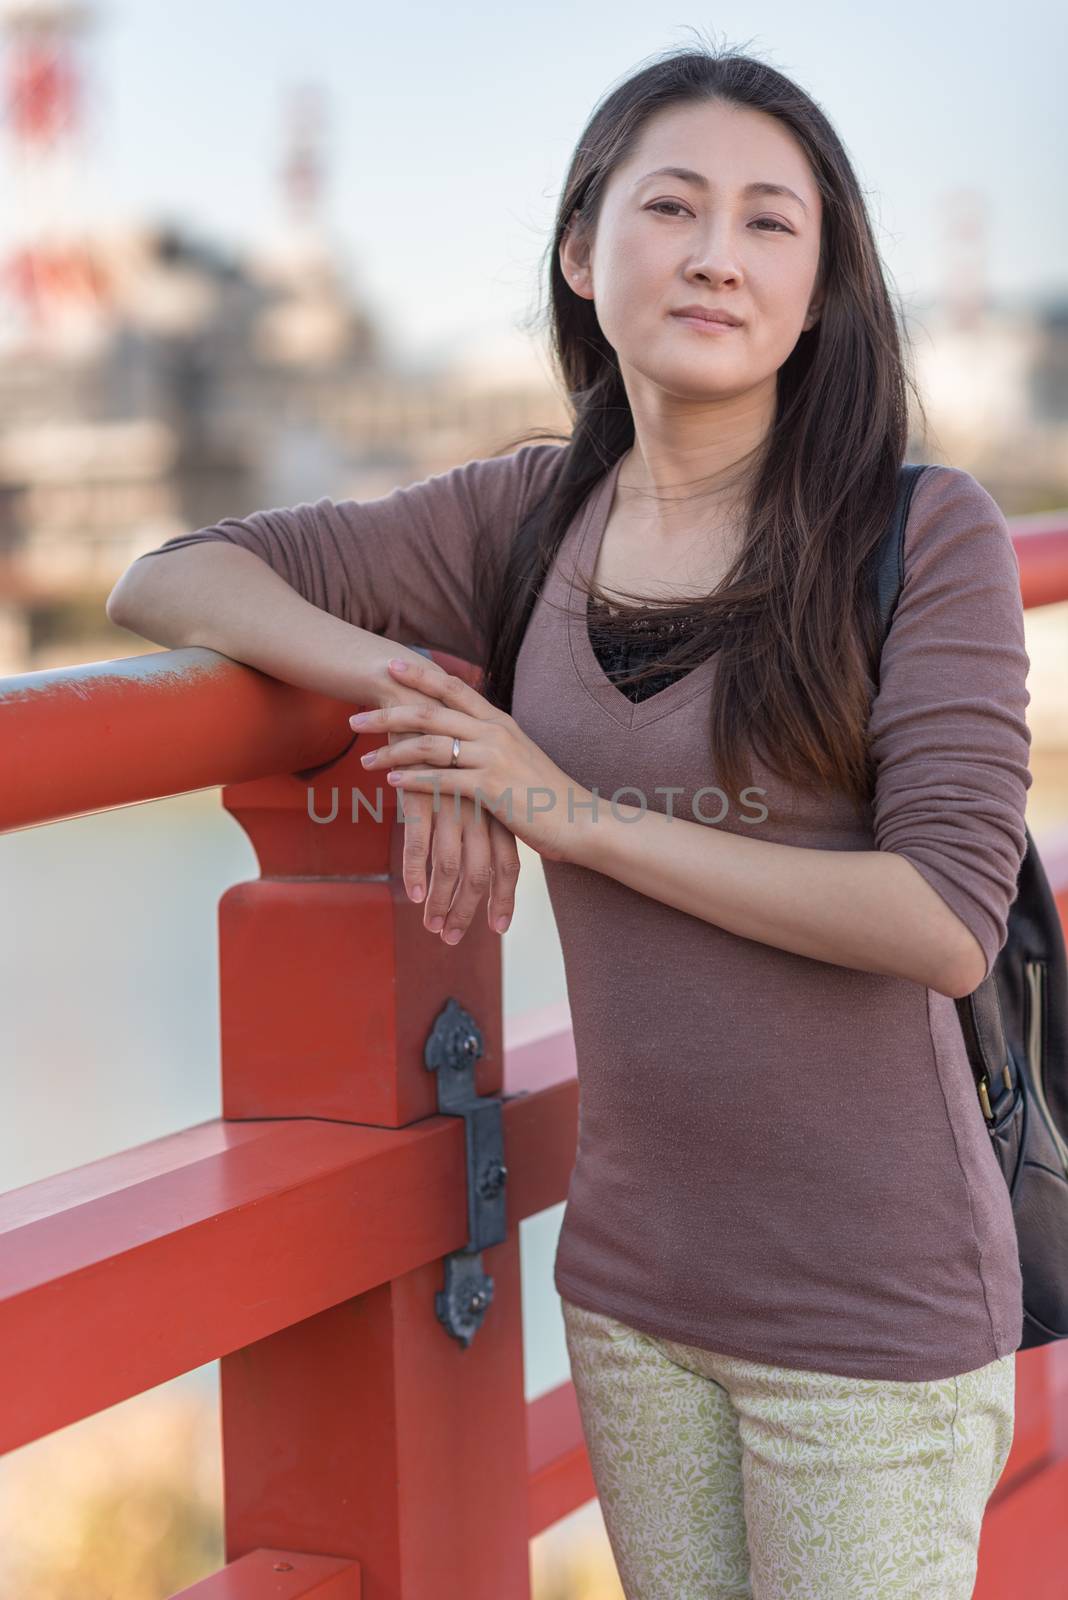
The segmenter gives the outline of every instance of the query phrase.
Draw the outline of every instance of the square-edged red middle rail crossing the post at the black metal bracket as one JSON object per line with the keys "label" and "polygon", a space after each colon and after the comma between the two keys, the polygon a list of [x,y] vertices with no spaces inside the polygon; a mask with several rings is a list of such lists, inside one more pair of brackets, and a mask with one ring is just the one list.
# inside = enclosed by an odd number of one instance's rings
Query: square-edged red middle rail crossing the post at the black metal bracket
{"label": "square-edged red middle rail crossing the post at the black metal bracket", "polygon": [[[512,1230],[568,1192],[579,1106],[569,1035],[512,1053],[505,1093],[516,1096],[502,1118]],[[397,1130],[219,1118],[8,1190],[0,1453],[440,1261],[465,1238],[456,1117]]]}

